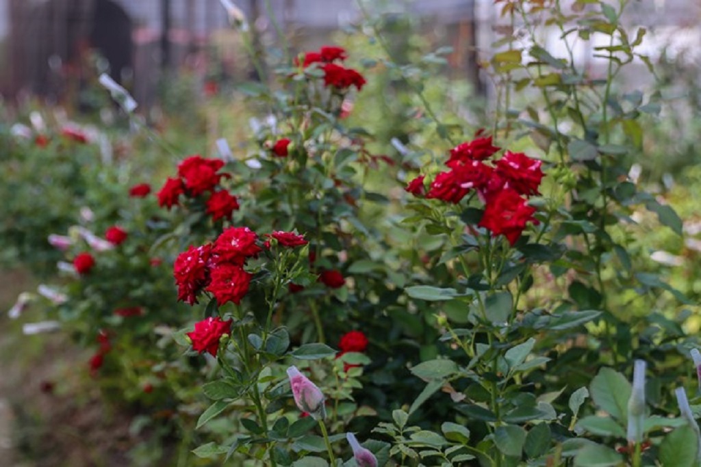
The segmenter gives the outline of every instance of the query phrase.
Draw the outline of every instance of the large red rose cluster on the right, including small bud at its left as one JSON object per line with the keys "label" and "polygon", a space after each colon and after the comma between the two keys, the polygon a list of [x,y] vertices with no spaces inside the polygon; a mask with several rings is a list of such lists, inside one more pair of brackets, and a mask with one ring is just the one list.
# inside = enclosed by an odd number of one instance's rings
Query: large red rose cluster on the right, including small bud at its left
{"label": "large red rose cluster on the right, including small bud at its left", "polygon": [[504,235],[515,244],[526,228],[526,223],[538,224],[533,214],[536,208],[529,206],[528,198],[538,195],[543,179],[542,162],[524,153],[505,151],[491,165],[486,164],[501,148],[492,144],[491,137],[477,137],[456,146],[445,162],[449,170],[440,172],[424,186],[424,175],[409,182],[405,190],[418,197],[442,200],[457,204],[468,194],[476,193],[484,202],[484,214],[479,227],[492,235]]}

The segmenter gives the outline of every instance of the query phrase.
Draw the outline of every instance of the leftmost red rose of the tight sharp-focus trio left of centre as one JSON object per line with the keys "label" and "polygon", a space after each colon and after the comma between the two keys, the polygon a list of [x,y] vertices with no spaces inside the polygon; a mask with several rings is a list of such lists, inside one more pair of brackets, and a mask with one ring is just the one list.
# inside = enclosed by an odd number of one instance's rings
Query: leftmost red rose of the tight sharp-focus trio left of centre
{"label": "leftmost red rose of the tight sharp-focus trio left of centre", "polygon": [[180,253],[173,264],[173,277],[177,284],[177,299],[194,305],[197,295],[208,284],[207,263],[210,260],[212,246],[207,244],[195,248],[190,246]]}

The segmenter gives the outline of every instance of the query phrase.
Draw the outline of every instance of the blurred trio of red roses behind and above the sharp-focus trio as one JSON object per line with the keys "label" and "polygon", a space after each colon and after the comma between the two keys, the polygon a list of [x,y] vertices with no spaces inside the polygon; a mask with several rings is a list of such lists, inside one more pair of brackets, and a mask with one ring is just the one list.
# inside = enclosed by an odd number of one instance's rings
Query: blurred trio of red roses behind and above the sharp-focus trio
{"label": "blurred trio of red roses behind and above the sharp-focus trio", "polygon": [[[207,214],[212,216],[213,221],[224,218],[231,221],[231,214],[239,206],[236,196],[219,186],[222,179],[231,177],[219,172],[222,167],[224,161],[221,159],[205,159],[199,155],[186,158],[178,165],[178,176],[169,177],[158,191],[158,205],[170,209],[179,206],[181,195],[197,198],[208,193],[205,197]],[[145,188],[141,188],[137,193],[145,191]]]}

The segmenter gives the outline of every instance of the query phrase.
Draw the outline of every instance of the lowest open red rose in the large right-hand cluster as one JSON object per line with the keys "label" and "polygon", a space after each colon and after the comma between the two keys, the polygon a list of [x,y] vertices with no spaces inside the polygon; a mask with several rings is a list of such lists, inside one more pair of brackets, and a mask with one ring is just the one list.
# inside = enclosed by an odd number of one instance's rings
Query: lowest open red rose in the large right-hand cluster
{"label": "lowest open red rose in the large right-hand cluster", "polygon": [[489,200],[479,227],[491,231],[492,236],[504,235],[513,246],[526,228],[526,223],[538,225],[533,213],[536,208],[526,204],[516,190],[505,188]]}

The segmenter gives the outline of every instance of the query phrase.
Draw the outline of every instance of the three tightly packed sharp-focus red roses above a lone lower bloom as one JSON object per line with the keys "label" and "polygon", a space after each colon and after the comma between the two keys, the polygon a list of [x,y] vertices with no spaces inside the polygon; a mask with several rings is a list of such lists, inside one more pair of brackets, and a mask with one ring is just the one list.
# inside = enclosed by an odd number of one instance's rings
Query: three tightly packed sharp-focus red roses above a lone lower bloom
{"label": "three tightly packed sharp-focus red roses above a lone lower bloom", "polygon": [[215,240],[180,253],[173,265],[178,300],[194,305],[203,291],[211,292],[219,305],[238,305],[248,292],[251,274],[243,270],[247,258],[261,251],[258,236],[247,227],[231,227]]}

